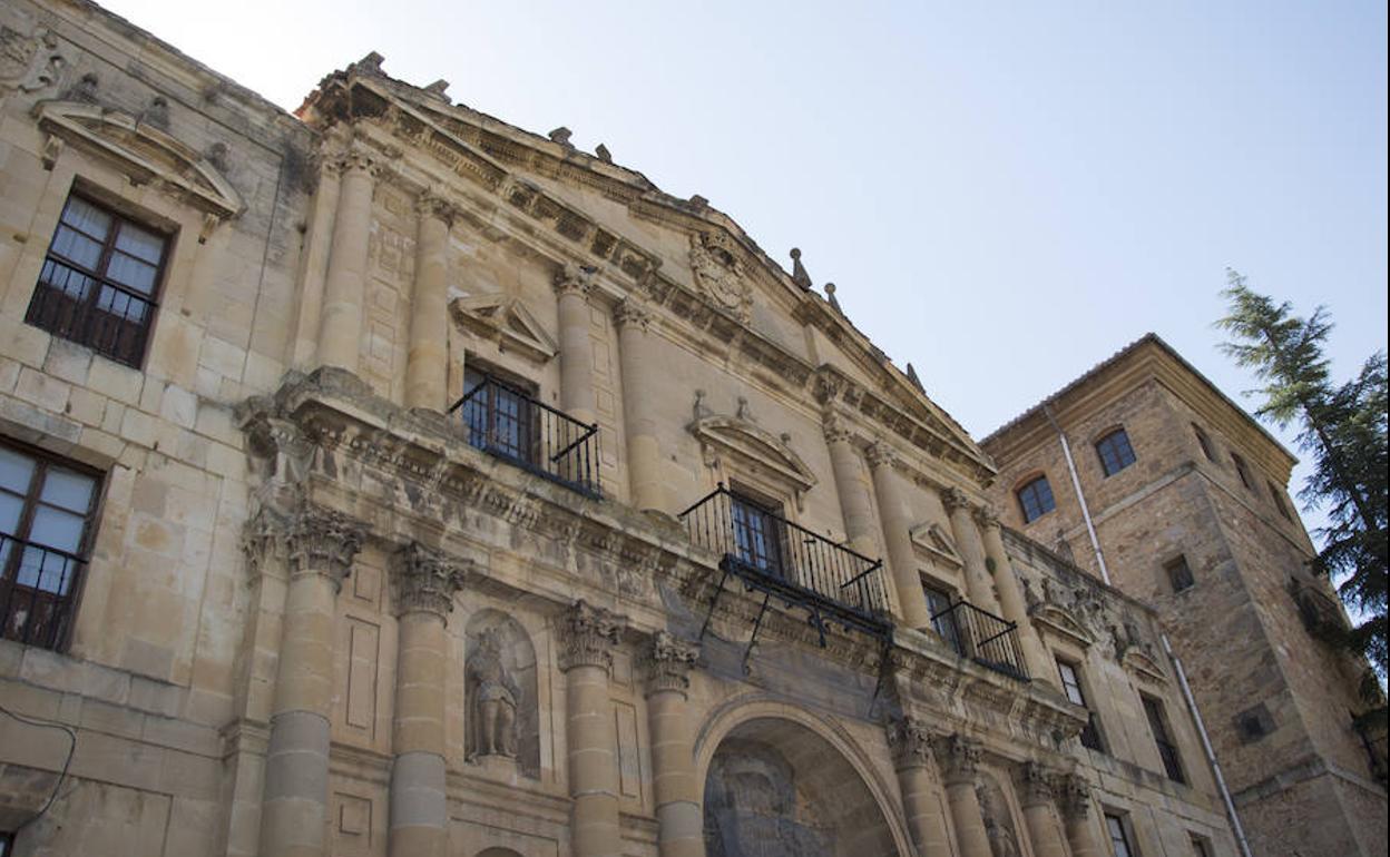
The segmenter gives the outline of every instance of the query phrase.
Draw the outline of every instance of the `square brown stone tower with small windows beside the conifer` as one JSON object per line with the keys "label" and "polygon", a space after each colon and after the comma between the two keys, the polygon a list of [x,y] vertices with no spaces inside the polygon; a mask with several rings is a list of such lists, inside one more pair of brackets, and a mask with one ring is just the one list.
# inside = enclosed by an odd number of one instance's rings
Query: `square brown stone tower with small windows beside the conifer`
{"label": "square brown stone tower with small windows beside the conifer", "polygon": [[1152,335],[981,444],[1008,525],[1158,610],[1252,850],[1383,854],[1384,735],[1354,725],[1365,664],[1318,632],[1346,617],[1293,456]]}

